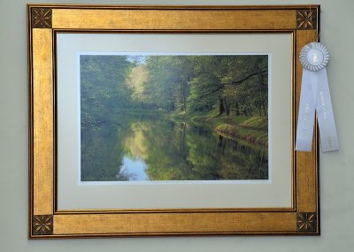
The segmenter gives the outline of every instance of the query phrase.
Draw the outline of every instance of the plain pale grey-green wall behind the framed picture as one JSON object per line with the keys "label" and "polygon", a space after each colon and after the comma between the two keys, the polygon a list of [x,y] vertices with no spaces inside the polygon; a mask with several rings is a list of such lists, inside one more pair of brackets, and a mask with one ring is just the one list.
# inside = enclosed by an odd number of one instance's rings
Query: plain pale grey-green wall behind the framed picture
{"label": "plain pale grey-green wall behind the framed picture", "polygon": [[[32,1],[30,1],[32,2]],[[0,0],[0,251],[351,251],[354,246],[354,1],[37,0],[52,4],[321,4],[321,42],[341,150],[320,154],[321,236],[27,240],[26,1]]]}

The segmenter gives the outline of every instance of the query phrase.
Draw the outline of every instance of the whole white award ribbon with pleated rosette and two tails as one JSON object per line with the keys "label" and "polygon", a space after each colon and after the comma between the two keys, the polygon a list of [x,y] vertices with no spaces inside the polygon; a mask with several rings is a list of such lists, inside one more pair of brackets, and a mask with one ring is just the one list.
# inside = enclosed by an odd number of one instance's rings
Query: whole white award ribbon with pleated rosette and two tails
{"label": "whole white award ribbon with pleated rosette and two tails", "polygon": [[305,45],[300,52],[300,62],[304,69],[297,118],[296,150],[312,149],[315,111],[322,150],[327,152],[339,149],[327,80],[328,60],[328,50],[319,42]]}

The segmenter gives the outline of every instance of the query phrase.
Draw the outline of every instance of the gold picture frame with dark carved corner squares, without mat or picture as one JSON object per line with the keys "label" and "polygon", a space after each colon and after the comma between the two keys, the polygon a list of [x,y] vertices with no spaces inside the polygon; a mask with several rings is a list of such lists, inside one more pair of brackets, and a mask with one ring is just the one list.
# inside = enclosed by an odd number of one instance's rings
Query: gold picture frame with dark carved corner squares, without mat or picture
{"label": "gold picture frame with dark carved corner squares, without mat or picture", "polygon": [[[30,239],[164,235],[319,234],[318,130],[295,151],[300,50],[319,34],[319,5],[113,6],[28,4]],[[292,41],[292,207],[58,210],[58,33],[287,33]]]}

